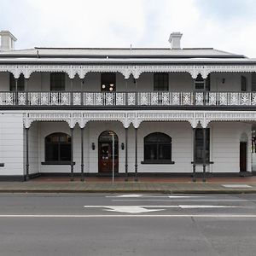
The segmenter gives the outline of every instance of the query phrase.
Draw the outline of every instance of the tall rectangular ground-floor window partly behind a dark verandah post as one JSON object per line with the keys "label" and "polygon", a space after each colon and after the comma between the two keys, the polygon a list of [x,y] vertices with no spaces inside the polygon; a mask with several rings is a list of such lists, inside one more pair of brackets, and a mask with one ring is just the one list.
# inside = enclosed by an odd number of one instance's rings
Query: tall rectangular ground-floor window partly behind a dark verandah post
{"label": "tall rectangular ground-floor window partly behind a dark verandah post", "polygon": [[[210,129],[206,129],[206,161],[210,160]],[[195,161],[203,161],[203,129],[195,130]]]}

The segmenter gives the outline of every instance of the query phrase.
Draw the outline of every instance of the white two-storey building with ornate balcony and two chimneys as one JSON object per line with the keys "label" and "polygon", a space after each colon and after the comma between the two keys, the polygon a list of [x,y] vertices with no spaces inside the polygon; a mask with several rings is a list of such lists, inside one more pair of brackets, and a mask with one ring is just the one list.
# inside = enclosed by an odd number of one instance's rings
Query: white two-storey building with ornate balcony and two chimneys
{"label": "white two-storey building with ornate balcony and two chimneys", "polygon": [[252,173],[256,60],[217,49],[14,48],[0,32],[0,179]]}

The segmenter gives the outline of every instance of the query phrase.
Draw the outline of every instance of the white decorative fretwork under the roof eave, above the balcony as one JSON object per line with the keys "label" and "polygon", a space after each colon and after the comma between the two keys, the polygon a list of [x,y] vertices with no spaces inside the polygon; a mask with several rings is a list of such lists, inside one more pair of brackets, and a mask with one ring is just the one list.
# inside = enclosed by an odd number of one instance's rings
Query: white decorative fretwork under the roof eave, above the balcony
{"label": "white decorative fretwork under the roof eave, above the balcony", "polygon": [[29,79],[32,73],[36,72],[64,72],[70,79],[76,74],[80,79],[84,79],[86,73],[121,73],[125,79],[132,75],[138,79],[142,73],[190,73],[193,79],[201,74],[203,79],[207,79],[209,73],[252,73],[256,72],[256,65],[230,64],[230,65],[0,65],[0,72],[13,73],[15,79],[23,73]]}

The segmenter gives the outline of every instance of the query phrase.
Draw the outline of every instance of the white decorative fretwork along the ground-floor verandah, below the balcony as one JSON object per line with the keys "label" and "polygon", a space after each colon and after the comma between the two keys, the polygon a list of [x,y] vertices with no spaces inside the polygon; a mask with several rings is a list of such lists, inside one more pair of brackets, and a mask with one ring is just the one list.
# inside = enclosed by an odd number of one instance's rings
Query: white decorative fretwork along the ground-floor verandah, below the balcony
{"label": "white decorative fretwork along the ground-floor verandah, below the balcony", "polygon": [[35,121],[64,121],[73,128],[84,127],[90,121],[119,121],[125,128],[138,128],[142,122],[185,121],[195,128],[207,128],[214,121],[256,121],[256,111],[30,111],[23,112],[23,124],[29,128]]}

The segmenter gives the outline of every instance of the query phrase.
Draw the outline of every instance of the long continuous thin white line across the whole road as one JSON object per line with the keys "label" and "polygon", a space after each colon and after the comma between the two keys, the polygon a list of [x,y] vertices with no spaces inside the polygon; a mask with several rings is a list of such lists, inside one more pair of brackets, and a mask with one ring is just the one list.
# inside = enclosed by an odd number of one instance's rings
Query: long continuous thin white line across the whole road
{"label": "long continuous thin white line across the whole road", "polygon": [[0,215],[0,218],[256,218],[256,214],[112,214],[112,215],[68,215],[68,214],[15,214],[15,215]]}

